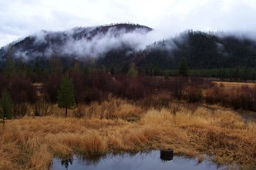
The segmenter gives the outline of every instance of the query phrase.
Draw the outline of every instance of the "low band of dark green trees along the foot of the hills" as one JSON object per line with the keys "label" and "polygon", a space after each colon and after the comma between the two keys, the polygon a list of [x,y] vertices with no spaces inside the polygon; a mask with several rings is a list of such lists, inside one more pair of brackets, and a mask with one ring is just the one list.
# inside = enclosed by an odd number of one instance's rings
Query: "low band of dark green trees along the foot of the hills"
{"label": "low band of dark green trees along the foot of the hills", "polygon": [[[124,57],[125,58],[125,57]],[[24,62],[22,58],[7,59],[7,63],[3,68],[0,68],[0,72],[19,72],[22,76],[29,75],[33,78],[33,82],[38,82],[36,78],[40,76],[49,75],[52,73],[69,72],[72,69],[83,70],[83,72],[94,72],[97,70],[103,72],[109,72],[112,75],[128,74],[131,70],[137,72],[140,75],[149,76],[163,76],[173,77],[179,75],[178,67],[180,61],[177,62],[175,69],[163,69],[163,68],[140,68],[135,63],[129,61],[123,62],[120,58],[119,65],[111,65],[113,62],[109,60],[109,66],[103,65],[108,59],[100,58],[100,64],[84,64],[73,58],[60,58],[56,55],[52,55],[47,60],[42,58],[35,58],[32,62]],[[180,59],[181,60],[181,59]],[[187,62],[187,60],[186,60]],[[187,62],[187,65],[189,63]],[[74,68],[73,68],[74,67]],[[187,67],[187,72],[190,77],[201,78],[220,78],[221,80],[233,81],[233,82],[246,82],[248,80],[256,80],[256,68],[247,66],[237,66],[235,68],[204,68],[204,69],[192,69]]]}

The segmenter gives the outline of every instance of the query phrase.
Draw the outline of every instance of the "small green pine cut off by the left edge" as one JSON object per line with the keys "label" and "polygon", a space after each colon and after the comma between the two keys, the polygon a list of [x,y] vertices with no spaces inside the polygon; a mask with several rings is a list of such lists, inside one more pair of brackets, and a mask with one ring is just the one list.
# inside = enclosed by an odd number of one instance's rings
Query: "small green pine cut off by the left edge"
{"label": "small green pine cut off by the left edge", "polygon": [[4,88],[2,90],[2,98],[0,100],[0,118],[2,120],[0,121],[5,125],[5,118],[12,118],[12,99],[8,95],[7,90]]}

